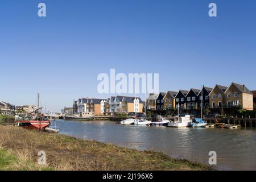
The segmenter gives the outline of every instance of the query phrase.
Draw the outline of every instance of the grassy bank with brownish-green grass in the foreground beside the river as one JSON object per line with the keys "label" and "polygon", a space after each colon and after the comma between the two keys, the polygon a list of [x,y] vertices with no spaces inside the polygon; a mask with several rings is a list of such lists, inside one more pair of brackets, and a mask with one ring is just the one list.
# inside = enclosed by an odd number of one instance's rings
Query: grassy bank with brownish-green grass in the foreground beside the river
{"label": "grassy bank with brownish-green grass in the foreground beside the river", "polygon": [[[208,170],[161,152],[137,151],[59,134],[0,126],[0,169],[8,170]],[[37,164],[44,150],[47,166]]]}

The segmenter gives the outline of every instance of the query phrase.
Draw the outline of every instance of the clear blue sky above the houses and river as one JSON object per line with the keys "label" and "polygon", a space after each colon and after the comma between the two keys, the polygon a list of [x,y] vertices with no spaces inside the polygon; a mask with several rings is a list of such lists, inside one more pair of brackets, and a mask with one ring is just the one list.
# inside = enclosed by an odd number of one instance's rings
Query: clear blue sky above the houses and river
{"label": "clear blue sky above the houses and river", "polygon": [[0,100],[15,105],[35,104],[38,90],[55,111],[108,97],[97,93],[97,76],[110,68],[159,73],[163,92],[232,81],[253,90],[255,58],[253,0],[0,2]]}

